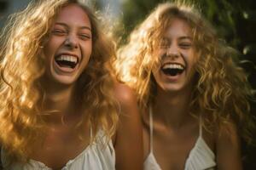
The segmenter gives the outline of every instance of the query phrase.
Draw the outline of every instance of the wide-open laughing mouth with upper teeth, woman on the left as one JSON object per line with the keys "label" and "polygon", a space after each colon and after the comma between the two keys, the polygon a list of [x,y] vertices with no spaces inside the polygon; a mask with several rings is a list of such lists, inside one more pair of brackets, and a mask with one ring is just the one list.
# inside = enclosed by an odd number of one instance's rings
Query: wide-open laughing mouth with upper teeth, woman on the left
{"label": "wide-open laughing mouth with upper teeth, woman on the left", "polygon": [[60,67],[74,69],[79,64],[79,58],[73,55],[62,54],[55,58],[55,62]]}

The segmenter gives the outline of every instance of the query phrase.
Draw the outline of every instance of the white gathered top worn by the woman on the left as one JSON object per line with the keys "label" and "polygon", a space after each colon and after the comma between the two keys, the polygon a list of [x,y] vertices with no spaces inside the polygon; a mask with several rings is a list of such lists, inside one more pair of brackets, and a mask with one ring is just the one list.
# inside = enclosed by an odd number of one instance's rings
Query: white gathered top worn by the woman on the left
{"label": "white gathered top worn by the woman on the left", "polygon": [[[87,146],[79,156],[76,156],[73,160],[67,161],[67,164],[62,167],[61,170],[114,170],[115,152],[112,141],[107,139],[103,131],[99,131],[96,134],[96,138],[101,139],[102,142],[94,142]],[[3,149],[1,150],[1,160],[3,169],[6,170],[52,170],[52,168],[44,165],[43,162],[34,160],[30,160],[26,165],[16,163],[12,164],[11,167],[6,168],[8,160],[6,160]]]}

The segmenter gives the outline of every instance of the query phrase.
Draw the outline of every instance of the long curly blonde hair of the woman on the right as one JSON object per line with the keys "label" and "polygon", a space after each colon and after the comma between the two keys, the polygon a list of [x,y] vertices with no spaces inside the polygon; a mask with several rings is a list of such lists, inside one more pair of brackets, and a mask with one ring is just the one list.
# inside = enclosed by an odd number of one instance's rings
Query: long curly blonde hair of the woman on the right
{"label": "long curly blonde hair of the woman on the right", "polygon": [[241,136],[250,142],[254,122],[249,100],[253,99],[253,90],[247,74],[238,65],[236,50],[218,39],[216,31],[191,4],[162,3],[131,32],[128,42],[118,50],[115,69],[119,79],[136,90],[138,105],[146,111],[156,93],[152,70],[159,61],[154,50],[173,19],[184,20],[190,26],[197,54],[190,114],[201,115],[208,130],[235,122]]}

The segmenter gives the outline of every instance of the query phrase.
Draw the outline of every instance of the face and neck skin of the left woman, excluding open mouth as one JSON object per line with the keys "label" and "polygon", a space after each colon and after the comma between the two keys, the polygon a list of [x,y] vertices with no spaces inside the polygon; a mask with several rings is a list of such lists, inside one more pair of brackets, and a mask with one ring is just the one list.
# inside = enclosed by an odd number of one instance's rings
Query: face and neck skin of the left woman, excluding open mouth
{"label": "face and neck skin of the left woman, excluding open mouth", "polygon": [[[69,106],[73,102],[72,93],[88,64],[91,50],[92,34],[88,15],[76,4],[62,8],[44,44],[45,74],[41,81],[47,94],[44,110],[59,108],[58,111],[64,114],[68,114],[70,109],[74,110],[73,106]],[[75,56],[79,63],[73,69],[61,67],[56,63],[56,58],[61,54]]]}

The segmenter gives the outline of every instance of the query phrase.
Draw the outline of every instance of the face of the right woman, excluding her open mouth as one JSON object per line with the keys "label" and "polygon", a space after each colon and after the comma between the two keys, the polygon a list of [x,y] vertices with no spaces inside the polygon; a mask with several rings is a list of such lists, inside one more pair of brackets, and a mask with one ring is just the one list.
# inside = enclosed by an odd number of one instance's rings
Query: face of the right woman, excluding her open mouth
{"label": "face of the right woman, excluding her open mouth", "polygon": [[[172,20],[172,24],[167,28],[155,54],[160,58],[159,67],[153,71],[158,88],[173,93],[191,88],[192,78],[195,74],[193,70],[195,49],[191,30],[186,22],[180,19]],[[170,63],[183,65],[185,70],[175,77],[167,76],[161,71],[161,66]]]}

